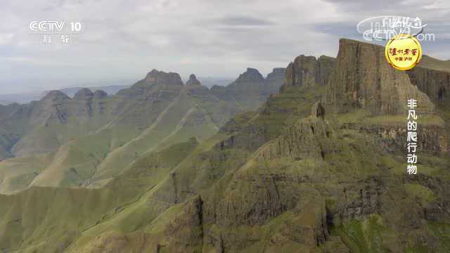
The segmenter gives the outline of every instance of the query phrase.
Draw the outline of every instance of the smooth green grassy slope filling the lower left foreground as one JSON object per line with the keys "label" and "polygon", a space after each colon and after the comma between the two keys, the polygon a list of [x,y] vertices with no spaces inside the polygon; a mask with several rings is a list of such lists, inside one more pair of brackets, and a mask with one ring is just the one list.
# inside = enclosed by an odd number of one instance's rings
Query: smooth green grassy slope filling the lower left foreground
{"label": "smooth green grassy slope filling the lower left foreground", "polygon": [[[102,189],[32,187],[17,195],[0,195],[0,251],[65,249],[84,231],[103,226],[117,214],[133,209],[196,145],[197,141],[191,139],[140,157]],[[135,229],[130,222],[117,226]]]}

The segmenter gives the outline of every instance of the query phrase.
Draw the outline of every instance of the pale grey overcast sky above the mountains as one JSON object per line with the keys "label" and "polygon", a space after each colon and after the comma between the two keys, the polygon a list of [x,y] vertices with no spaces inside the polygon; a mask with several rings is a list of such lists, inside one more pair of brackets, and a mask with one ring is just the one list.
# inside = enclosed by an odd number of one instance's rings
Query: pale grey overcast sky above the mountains
{"label": "pale grey overcast sky above the mountains", "polygon": [[[146,72],[235,78],[267,74],[300,54],[336,56],[338,39],[377,15],[420,17],[436,40],[425,53],[450,58],[449,1],[428,0],[3,0],[0,93],[140,79]],[[84,22],[82,34],[42,44],[33,20]]]}

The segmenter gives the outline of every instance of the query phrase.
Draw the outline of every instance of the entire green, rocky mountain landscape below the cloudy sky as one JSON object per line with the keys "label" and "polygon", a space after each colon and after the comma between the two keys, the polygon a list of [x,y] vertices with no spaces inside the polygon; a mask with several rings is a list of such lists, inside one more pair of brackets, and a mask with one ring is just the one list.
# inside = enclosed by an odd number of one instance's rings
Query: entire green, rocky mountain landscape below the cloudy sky
{"label": "entire green, rocky mountain landscape below the cloudy sky", "polygon": [[0,252],[449,252],[445,65],[340,39],[225,88],[152,70],[113,97],[0,107]]}

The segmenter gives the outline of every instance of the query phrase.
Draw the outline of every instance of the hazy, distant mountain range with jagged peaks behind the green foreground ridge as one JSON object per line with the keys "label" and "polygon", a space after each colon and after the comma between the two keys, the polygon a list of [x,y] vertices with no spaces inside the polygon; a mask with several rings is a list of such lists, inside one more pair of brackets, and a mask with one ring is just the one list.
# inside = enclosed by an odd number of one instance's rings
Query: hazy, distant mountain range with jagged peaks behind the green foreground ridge
{"label": "hazy, distant mountain range with jagged peaks behind the green foreground ridge", "polygon": [[[0,105],[0,193],[102,186],[136,157],[191,137],[203,141],[232,115],[255,110],[283,84],[282,72],[264,79],[249,69],[217,94],[194,74],[184,85],[179,74],[152,70],[115,96],[84,88],[73,98],[50,91],[30,104]],[[23,168],[24,160],[39,166]]]}

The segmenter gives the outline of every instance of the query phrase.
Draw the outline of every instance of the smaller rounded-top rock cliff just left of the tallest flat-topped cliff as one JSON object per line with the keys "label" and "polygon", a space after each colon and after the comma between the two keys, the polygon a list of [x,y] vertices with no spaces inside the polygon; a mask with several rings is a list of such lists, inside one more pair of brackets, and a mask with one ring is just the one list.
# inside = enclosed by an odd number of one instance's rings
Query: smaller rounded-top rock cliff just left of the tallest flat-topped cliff
{"label": "smaller rounded-top rock cliff just left of the tallest flat-topped cliff", "polygon": [[321,56],[298,56],[286,68],[285,86],[325,85],[333,72],[335,59]]}

